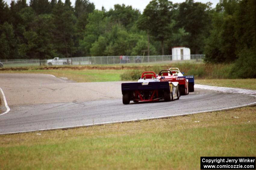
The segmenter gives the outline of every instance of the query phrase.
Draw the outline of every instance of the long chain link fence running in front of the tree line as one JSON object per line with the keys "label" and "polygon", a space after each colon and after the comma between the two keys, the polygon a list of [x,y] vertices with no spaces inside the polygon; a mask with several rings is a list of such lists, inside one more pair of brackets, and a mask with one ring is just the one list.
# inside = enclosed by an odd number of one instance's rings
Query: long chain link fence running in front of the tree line
{"label": "long chain link fence running in front of the tree line", "polygon": [[[60,58],[60,62],[39,59],[1,60],[4,67],[24,67],[49,65],[89,65],[89,64],[127,64],[127,63],[161,63],[161,62],[203,62],[204,55],[190,55],[190,60],[172,60],[172,55],[153,56],[99,56],[99,57],[73,57]],[[69,62],[67,62],[69,61]],[[71,62],[70,62],[71,61]]]}

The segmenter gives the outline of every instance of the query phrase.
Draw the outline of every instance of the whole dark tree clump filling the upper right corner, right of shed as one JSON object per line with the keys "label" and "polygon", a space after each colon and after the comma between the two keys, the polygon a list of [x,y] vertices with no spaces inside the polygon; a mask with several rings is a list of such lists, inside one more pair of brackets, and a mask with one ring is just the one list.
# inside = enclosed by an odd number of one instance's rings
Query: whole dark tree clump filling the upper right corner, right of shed
{"label": "whole dark tree clump filling the upper right corner, right of shed", "polygon": [[206,61],[234,62],[233,77],[256,77],[256,1],[220,0],[205,46]]}

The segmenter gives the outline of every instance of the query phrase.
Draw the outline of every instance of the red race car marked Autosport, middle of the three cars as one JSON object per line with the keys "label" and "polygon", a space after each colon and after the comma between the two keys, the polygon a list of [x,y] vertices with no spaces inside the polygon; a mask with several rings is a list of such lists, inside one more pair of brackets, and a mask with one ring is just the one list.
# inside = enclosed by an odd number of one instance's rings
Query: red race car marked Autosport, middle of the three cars
{"label": "red race car marked Autosport, middle of the three cars", "polygon": [[161,70],[158,74],[158,79],[161,82],[179,82],[180,95],[189,94],[189,80],[184,77],[178,77],[178,75],[173,74],[170,70]]}

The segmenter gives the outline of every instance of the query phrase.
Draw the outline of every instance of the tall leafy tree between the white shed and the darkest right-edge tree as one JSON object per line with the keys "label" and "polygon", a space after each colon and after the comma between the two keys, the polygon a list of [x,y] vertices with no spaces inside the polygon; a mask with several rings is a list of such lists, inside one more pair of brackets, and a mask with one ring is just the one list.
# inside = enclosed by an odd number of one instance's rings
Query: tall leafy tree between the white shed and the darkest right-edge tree
{"label": "tall leafy tree between the white shed and the darkest right-edge tree", "polygon": [[213,14],[213,29],[205,46],[207,61],[231,62],[236,59],[235,17],[238,2],[220,1]]}

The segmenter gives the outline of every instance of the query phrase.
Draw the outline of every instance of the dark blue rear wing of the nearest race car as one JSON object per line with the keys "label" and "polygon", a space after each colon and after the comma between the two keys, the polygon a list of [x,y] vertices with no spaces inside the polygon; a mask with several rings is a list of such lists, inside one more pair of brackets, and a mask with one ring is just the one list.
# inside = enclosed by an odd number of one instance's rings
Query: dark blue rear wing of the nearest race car
{"label": "dark blue rear wing of the nearest race car", "polygon": [[122,94],[127,91],[144,90],[170,90],[170,84],[166,82],[142,82],[142,83],[122,83]]}

